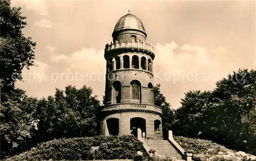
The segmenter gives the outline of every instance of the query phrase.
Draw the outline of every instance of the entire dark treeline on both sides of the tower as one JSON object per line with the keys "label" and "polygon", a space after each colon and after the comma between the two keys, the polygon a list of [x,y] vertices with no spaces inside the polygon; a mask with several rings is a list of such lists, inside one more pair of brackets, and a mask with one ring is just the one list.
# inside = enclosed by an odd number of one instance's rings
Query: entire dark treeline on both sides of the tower
{"label": "entire dark treeline on both sides of the tower", "polygon": [[[100,101],[90,87],[67,86],[42,99],[15,87],[22,70],[34,65],[35,42],[22,34],[26,17],[20,8],[0,1],[1,157],[53,139],[96,136]],[[189,91],[178,110],[170,109],[157,85],[155,104],[163,109],[164,138],[172,129],[175,135],[207,139],[255,155],[255,82],[255,70],[239,70],[219,81],[213,91]]]}

